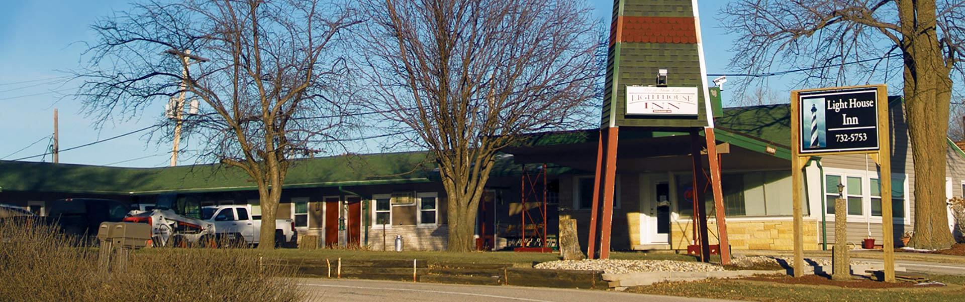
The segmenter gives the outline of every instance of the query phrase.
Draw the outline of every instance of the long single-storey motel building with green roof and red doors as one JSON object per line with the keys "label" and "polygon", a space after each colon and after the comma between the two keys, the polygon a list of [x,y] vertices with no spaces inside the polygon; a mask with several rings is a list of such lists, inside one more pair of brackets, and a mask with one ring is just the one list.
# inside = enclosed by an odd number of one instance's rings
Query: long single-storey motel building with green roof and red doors
{"label": "long single-storey motel building with green roof and red doors", "polygon": [[[915,173],[908,132],[901,100],[892,98],[889,105],[893,200],[881,200],[876,165],[865,155],[813,159],[804,170],[806,249],[834,243],[839,213],[832,201],[839,184],[847,200],[849,243],[860,246],[873,238],[881,244],[882,202],[894,205],[897,244],[912,230]],[[789,106],[727,108],[715,119],[731,248],[790,250]],[[542,246],[543,232],[553,247],[559,217],[565,216],[577,219],[586,251],[597,134],[597,129],[534,134],[506,150],[480,205],[478,247]],[[620,132],[611,250],[685,251],[693,243],[689,150],[685,133]],[[947,150],[947,195],[963,196],[965,153],[951,141]],[[292,219],[299,237],[318,236],[321,247],[391,249],[400,235],[406,250],[444,250],[447,198],[431,163],[425,152],[298,160],[290,169],[279,218]],[[188,215],[198,214],[200,206],[240,204],[258,217],[257,196],[246,175],[213,164],[127,168],[0,162],[0,203],[40,215],[66,213],[51,208],[54,200],[108,198],[135,207],[174,201]],[[713,213],[711,199],[704,202]],[[717,228],[708,216],[713,244]]]}

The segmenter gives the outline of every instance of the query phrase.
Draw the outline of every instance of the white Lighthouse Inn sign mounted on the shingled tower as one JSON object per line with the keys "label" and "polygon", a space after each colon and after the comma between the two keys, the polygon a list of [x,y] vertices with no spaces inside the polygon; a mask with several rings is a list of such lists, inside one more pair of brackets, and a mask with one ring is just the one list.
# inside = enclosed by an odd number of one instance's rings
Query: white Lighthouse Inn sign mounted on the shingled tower
{"label": "white Lighthouse Inn sign mounted on the shingled tower", "polygon": [[626,87],[627,115],[697,115],[696,87]]}

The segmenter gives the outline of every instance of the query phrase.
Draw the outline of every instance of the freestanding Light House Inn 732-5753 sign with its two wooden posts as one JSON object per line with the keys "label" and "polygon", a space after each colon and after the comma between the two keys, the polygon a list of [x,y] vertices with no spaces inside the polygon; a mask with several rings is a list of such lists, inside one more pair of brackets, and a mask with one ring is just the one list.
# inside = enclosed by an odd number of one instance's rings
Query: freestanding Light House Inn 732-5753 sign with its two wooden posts
{"label": "freestanding Light House Inn 732-5753 sign with its two wooden posts", "polygon": [[[879,165],[880,171],[885,281],[895,282],[887,86],[793,90],[790,104],[794,277],[804,275],[804,205],[801,199],[804,193],[804,165],[812,156],[867,154]],[[836,224],[839,222],[841,220],[835,220]]]}

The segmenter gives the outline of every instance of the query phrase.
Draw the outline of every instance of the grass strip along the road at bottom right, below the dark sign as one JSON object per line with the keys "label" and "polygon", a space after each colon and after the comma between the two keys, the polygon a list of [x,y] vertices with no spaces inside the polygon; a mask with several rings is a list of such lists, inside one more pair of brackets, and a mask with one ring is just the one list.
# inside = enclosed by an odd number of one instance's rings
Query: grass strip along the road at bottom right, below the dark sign
{"label": "grass strip along the road at bottom right, below the dark sign", "polygon": [[834,286],[787,285],[744,280],[660,283],[627,289],[631,292],[751,301],[962,301],[963,276],[932,276],[945,288],[844,289]]}

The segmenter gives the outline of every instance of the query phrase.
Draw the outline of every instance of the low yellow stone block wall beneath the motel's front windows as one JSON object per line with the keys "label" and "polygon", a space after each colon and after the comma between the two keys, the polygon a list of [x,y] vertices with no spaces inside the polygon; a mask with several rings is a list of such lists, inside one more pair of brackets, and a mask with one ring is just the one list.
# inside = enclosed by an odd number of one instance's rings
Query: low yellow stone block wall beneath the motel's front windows
{"label": "low yellow stone block wall beneath the motel's front windows", "polygon": [[[717,223],[707,221],[709,225],[708,237],[710,244],[717,244]],[[793,250],[794,222],[792,220],[751,220],[728,221],[728,239],[734,250]],[[671,247],[686,250],[693,242],[693,224],[690,220],[681,220],[671,227]],[[804,249],[818,250],[817,223],[804,221]]]}

